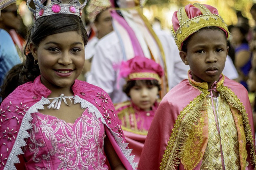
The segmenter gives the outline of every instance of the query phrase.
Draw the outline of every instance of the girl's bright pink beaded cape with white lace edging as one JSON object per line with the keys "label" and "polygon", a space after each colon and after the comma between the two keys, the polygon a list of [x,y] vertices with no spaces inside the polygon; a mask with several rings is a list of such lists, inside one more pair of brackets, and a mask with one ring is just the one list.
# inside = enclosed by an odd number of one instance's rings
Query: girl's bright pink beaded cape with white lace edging
{"label": "girl's bright pink beaded cape with white lace edging", "polygon": [[[94,112],[104,125],[105,133],[125,168],[135,169],[137,163],[133,162],[134,156],[130,155],[131,149],[127,148],[128,144],[108,94],[80,80],[75,80],[72,90],[75,98],[83,101],[81,107]],[[34,82],[17,87],[1,104],[0,169],[16,169],[14,164],[19,163],[18,157],[23,154],[21,148],[27,144],[25,140],[29,137],[27,130],[32,128],[31,114],[49,104],[46,98],[50,93],[38,76]]]}

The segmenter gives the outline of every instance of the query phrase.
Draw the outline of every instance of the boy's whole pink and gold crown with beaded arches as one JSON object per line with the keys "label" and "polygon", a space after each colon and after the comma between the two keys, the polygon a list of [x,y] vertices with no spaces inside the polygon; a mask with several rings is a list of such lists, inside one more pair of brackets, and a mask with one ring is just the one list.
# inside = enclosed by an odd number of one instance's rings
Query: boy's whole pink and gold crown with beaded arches
{"label": "boy's whole pink and gold crown with beaded arches", "polygon": [[210,5],[194,3],[175,11],[172,17],[172,33],[179,50],[181,51],[183,42],[190,35],[207,26],[217,26],[229,37],[227,25],[219,16],[218,10]]}

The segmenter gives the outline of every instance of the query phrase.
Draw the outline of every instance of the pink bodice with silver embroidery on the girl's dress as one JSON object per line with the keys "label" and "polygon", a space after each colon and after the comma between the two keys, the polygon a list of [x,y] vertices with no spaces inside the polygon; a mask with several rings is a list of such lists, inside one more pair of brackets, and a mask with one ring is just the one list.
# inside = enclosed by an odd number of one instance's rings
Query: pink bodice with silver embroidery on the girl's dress
{"label": "pink bodice with silver embroidery on the girl's dress", "polygon": [[[34,113],[32,125],[25,157],[32,153],[37,167],[54,162],[56,169],[107,169],[103,153],[104,126],[95,113],[86,109],[74,126],[53,116]],[[49,152],[42,154],[46,150]]]}

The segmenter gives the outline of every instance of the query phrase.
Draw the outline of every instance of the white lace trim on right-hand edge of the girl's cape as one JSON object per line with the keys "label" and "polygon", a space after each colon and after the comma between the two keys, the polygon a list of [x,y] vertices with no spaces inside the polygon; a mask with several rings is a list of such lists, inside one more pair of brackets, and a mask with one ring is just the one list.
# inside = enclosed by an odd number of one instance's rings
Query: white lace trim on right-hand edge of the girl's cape
{"label": "white lace trim on right-hand edge of the girl's cape", "polygon": [[97,118],[101,119],[101,122],[103,124],[105,124],[111,131],[112,135],[114,136],[115,140],[117,141],[118,146],[120,147],[122,153],[124,154],[125,158],[129,161],[129,163],[131,164],[131,166],[133,167],[133,169],[136,169],[137,167],[137,162],[133,162],[135,155],[130,155],[132,152],[132,149],[126,149],[126,147],[128,146],[128,143],[123,143],[123,138],[119,138],[117,137],[117,133],[113,132],[111,130],[111,128],[107,125],[106,121],[104,120],[102,114],[100,113],[100,111],[96,108],[96,106],[94,106],[92,103],[80,98],[79,96],[75,95],[74,97],[74,103],[80,103],[82,109],[84,108],[88,108],[88,112],[92,113],[94,112],[96,114]]}

